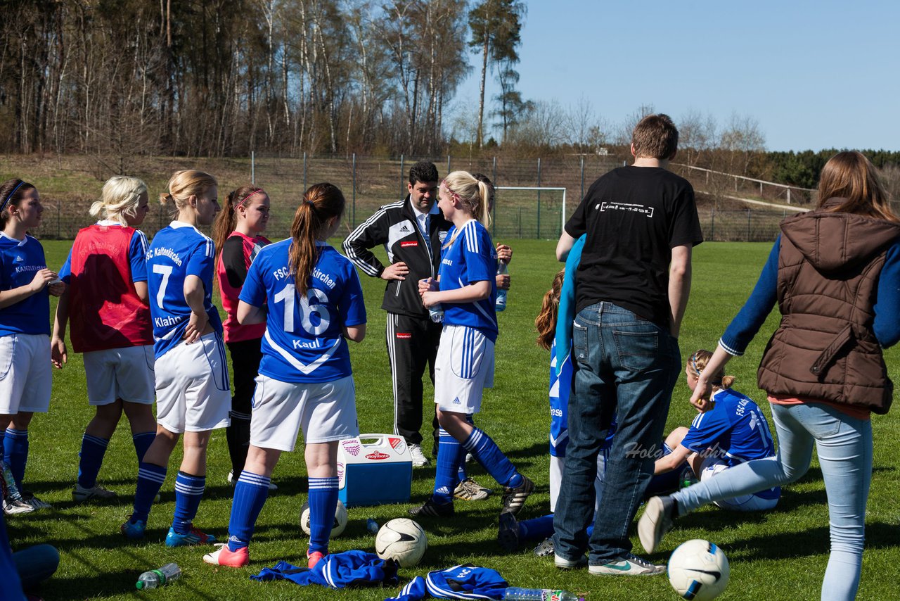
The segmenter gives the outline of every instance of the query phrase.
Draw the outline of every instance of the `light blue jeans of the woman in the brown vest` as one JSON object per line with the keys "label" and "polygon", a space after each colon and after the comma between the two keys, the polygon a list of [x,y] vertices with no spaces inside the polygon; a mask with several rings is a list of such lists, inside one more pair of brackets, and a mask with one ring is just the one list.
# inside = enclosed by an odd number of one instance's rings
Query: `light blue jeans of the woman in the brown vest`
{"label": "light blue jeans of the woman in the brown vest", "polygon": [[748,461],[683,488],[672,495],[678,501],[679,514],[797,480],[809,469],[815,442],[828,496],[832,542],[822,599],[853,599],[860,586],[872,479],[872,424],[818,403],[771,407],[779,438],[778,457]]}

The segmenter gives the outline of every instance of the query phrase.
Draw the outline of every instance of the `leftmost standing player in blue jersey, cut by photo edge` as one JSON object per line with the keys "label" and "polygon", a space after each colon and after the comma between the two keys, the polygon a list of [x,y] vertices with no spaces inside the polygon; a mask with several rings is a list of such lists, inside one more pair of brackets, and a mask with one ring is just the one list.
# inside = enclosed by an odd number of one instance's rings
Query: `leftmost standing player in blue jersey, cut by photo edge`
{"label": "leftmost standing player in blue jersey, cut by photo edge", "polygon": [[[3,460],[34,509],[49,507],[23,489],[28,425],[50,405],[50,300],[65,285],[47,269],[44,249],[28,235],[40,226],[38,190],[21,179],[0,185],[0,428]],[[56,281],[57,283],[51,283]],[[21,509],[27,509],[21,507]],[[13,513],[13,512],[11,512]],[[14,512],[19,513],[19,512]]]}

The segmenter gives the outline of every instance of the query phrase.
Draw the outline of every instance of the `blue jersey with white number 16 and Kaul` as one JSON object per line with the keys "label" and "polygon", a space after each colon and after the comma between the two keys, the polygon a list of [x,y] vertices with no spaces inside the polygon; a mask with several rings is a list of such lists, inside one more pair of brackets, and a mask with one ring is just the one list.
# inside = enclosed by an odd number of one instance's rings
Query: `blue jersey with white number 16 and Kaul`
{"label": "blue jersey with white number 16 and Kaul", "polygon": [[297,294],[288,257],[291,241],[259,250],[238,298],[268,306],[259,373],[282,382],[331,382],[351,374],[346,326],[365,323],[356,268],[320,242],[306,296]]}

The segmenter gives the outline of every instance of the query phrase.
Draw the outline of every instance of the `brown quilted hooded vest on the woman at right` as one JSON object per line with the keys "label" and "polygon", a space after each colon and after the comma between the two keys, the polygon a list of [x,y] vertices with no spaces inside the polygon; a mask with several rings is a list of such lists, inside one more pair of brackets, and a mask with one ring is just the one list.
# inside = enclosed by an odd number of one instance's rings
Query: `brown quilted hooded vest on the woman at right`
{"label": "brown quilted hooded vest on the woman at right", "polygon": [[872,322],[878,274],[898,237],[898,223],[822,210],[781,223],[781,323],[757,373],[763,390],[887,413],[894,385]]}

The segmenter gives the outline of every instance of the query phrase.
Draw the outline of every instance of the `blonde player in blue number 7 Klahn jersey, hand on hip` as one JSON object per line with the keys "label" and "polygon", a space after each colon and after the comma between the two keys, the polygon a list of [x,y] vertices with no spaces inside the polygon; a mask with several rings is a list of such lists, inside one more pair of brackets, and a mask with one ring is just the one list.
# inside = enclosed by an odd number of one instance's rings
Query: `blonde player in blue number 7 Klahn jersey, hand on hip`
{"label": "blonde player in blue number 7 Klahn jersey, hand on hip", "polygon": [[219,310],[212,305],[215,247],[196,227],[211,224],[219,211],[216,180],[202,171],[178,171],[168,189],[160,202],[175,205],[175,221],[157,232],[147,252],[157,436],[139,463],[134,509],[121,532],[143,537],[150,505],[184,433],[175,515],[166,535],[166,546],[180,547],[215,540],[193,526],[193,517],[206,487],[206,447],[212,431],[228,425],[231,399]]}

